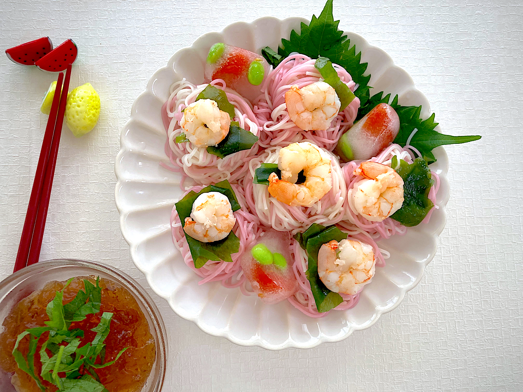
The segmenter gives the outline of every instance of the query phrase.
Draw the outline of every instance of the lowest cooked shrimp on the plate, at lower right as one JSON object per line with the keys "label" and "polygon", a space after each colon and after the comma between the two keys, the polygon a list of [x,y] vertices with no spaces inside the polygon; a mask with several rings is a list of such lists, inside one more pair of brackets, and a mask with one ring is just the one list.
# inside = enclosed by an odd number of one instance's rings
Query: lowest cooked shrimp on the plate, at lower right
{"label": "lowest cooked shrimp on the plate, at lower right", "polygon": [[332,240],[318,252],[318,275],[327,289],[354,295],[374,276],[374,252],[353,239]]}

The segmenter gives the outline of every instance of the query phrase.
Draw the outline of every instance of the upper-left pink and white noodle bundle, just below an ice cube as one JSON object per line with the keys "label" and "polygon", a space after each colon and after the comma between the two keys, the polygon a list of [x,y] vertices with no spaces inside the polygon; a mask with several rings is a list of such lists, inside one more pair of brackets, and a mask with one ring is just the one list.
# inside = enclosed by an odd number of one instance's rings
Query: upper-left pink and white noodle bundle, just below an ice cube
{"label": "upper-left pink and white noodle bundle, just below an ice cube", "polygon": [[[225,91],[227,99],[234,105],[234,121],[240,122],[240,127],[260,135],[261,126],[254,115],[250,104],[234,90],[225,87],[221,79],[210,83]],[[180,186],[203,184],[210,185],[222,180],[235,181],[243,178],[247,172],[248,160],[257,154],[259,146],[256,143],[251,149],[219,158],[209,154],[206,147],[196,147],[191,142],[176,143],[176,136],[183,132],[179,122],[187,106],[196,101],[196,97],[207,87],[207,84],[195,86],[185,79],[170,87],[170,96],[162,108],[162,119],[167,132],[165,153],[174,167],[171,170],[182,174]]]}

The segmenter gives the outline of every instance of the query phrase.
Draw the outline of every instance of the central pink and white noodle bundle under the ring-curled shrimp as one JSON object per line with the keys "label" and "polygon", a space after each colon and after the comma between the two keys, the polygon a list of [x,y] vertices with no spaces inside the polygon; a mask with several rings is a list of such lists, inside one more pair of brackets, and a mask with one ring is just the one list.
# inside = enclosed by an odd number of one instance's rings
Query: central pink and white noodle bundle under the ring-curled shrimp
{"label": "central pink and white noodle bundle under the ring-curled shrimp", "polygon": [[255,170],[261,163],[278,163],[280,149],[281,147],[267,148],[265,153],[252,158],[248,164],[249,170],[244,181],[245,199],[249,209],[258,216],[260,222],[280,232],[292,231],[294,234],[313,223],[328,226],[342,220],[347,187],[338,159],[330,152],[323,150],[331,157],[332,188],[310,207],[282,203],[269,194],[268,186],[253,184]]}

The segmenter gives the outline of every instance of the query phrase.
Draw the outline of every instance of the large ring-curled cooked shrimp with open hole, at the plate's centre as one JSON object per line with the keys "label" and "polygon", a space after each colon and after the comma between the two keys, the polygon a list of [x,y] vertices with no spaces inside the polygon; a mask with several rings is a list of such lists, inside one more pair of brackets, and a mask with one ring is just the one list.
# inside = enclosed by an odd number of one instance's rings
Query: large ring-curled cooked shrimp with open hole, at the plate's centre
{"label": "large ring-curled cooked shrimp with open hole, at the plate's centre", "polygon": [[[292,143],[280,149],[276,173],[269,176],[269,193],[288,205],[310,206],[332,188],[331,158],[320,147],[310,142]],[[305,182],[298,185],[298,174],[303,170]]]}

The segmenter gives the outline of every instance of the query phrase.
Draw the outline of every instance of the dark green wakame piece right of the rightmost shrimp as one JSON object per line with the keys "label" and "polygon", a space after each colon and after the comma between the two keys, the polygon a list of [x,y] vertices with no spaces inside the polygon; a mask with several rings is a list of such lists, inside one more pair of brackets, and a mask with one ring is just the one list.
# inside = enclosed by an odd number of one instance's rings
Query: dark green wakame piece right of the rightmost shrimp
{"label": "dark green wakame piece right of the rightmost shrimp", "polygon": [[[397,167],[397,157],[392,157],[391,166]],[[403,205],[391,215],[391,218],[404,226],[412,227],[420,224],[430,209],[434,206],[428,198],[430,187],[434,180],[430,174],[427,162],[423,158],[416,158],[412,164],[400,159],[400,168],[397,174],[403,178]]]}

